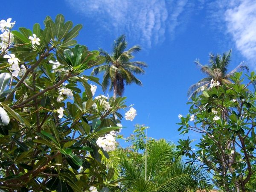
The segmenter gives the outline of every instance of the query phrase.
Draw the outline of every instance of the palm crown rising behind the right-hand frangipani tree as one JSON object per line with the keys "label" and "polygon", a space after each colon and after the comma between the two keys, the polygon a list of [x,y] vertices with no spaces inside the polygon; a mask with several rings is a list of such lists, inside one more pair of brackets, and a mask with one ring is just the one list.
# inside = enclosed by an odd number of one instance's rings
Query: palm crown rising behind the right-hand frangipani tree
{"label": "palm crown rising behind the right-hand frangipani tree", "polygon": [[188,96],[189,99],[192,96],[195,96],[197,94],[200,94],[203,92],[203,90],[210,87],[211,80],[218,81],[220,85],[222,84],[232,84],[230,81],[230,76],[232,76],[235,72],[247,70],[249,71],[249,67],[246,65],[243,65],[243,62],[239,64],[234,70],[232,70],[230,73],[227,73],[227,67],[230,64],[231,61],[231,51],[229,53],[223,53],[222,57],[221,55],[217,54],[214,55],[210,53],[209,58],[209,65],[203,66],[199,63],[198,60],[195,61],[196,66],[207,75],[206,78],[201,79],[196,84],[192,84],[189,87]]}

